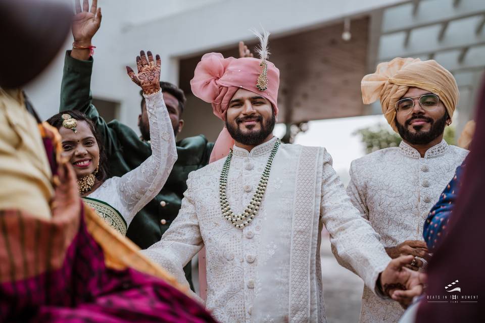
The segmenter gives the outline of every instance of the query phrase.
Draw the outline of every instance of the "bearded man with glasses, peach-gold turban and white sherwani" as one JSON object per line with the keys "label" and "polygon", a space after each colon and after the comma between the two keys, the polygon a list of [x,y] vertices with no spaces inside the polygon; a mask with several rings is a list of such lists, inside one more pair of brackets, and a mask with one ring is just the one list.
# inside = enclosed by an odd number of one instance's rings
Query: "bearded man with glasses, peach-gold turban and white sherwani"
{"label": "bearded man with glasses, peach-gold turban and white sherwani", "polygon": [[[396,58],[362,79],[362,97],[366,104],[380,99],[385,119],[403,140],[354,160],[347,193],[387,254],[412,255],[408,267],[422,271],[430,257],[423,241],[429,210],[468,152],[443,140],[458,103],[456,81],[433,60]],[[361,322],[397,322],[402,314],[398,303],[364,287]]]}

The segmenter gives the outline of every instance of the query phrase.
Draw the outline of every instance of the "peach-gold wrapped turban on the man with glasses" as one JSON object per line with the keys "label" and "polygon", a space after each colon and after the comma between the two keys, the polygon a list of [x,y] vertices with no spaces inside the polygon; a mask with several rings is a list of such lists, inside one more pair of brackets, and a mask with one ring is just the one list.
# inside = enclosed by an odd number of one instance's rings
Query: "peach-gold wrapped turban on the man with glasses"
{"label": "peach-gold wrapped turban on the man with glasses", "polygon": [[396,58],[380,63],[374,74],[362,79],[362,100],[364,104],[370,104],[380,99],[385,119],[398,132],[395,106],[409,87],[437,94],[450,118],[453,116],[460,96],[458,86],[453,75],[434,60]]}

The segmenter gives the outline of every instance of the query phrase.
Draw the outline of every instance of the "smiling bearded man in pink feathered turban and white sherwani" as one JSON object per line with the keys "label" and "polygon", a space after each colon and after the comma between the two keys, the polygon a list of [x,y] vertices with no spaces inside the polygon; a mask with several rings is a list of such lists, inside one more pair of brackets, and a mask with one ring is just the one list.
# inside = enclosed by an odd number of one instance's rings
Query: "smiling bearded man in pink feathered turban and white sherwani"
{"label": "smiling bearded man in pink feathered turban and white sherwani", "polygon": [[206,306],[220,322],[324,322],[324,225],[371,290],[419,293],[421,275],[403,267],[412,257],[386,254],[328,152],[273,136],[279,70],[267,61],[268,34],[259,36],[259,59],[207,53],[197,65],[192,92],[226,127],[213,162],[189,174],[177,218],[144,254],[186,285],[182,268],[205,246]]}

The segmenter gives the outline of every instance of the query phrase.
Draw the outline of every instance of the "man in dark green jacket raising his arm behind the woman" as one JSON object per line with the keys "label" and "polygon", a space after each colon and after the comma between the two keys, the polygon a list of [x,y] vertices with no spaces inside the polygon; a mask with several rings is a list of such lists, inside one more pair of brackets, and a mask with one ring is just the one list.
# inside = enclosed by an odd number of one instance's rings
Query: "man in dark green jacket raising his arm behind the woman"
{"label": "man in dark green jacket raising his arm behind the woman", "polygon": [[[141,102],[141,114],[138,118],[141,137],[133,129],[117,120],[106,123],[98,114],[95,106],[91,104],[90,82],[93,59],[90,56],[89,47],[92,36],[99,27],[100,23],[94,20],[94,14],[89,12],[86,13],[84,20],[73,22],[74,45],[72,51],[67,51],[64,61],[60,112],[81,111],[93,121],[96,130],[104,140],[103,144],[106,147],[109,162],[109,175],[122,176],[137,168],[152,154],[150,126],[144,101]],[[177,135],[183,126],[181,114],[185,97],[182,90],[173,84],[161,82],[161,88],[175,135]],[[203,135],[185,138],[177,142],[178,158],[165,186],[136,214],[128,228],[126,236],[140,248],[146,249],[159,241],[162,234],[168,229],[180,209],[183,192],[187,189],[188,173],[208,164],[213,146],[214,144],[207,142]],[[185,266],[184,270],[186,278],[191,284],[190,263]]]}

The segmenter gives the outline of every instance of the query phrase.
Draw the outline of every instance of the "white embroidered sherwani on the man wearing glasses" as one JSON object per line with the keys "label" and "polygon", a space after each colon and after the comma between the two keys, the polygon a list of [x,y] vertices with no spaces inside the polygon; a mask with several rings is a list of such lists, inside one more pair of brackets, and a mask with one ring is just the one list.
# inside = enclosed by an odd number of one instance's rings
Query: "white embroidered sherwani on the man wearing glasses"
{"label": "white embroidered sherwani on the man wearing glasses", "polygon": [[[347,193],[362,217],[380,235],[384,247],[395,247],[406,240],[423,240],[429,210],[467,152],[443,140],[421,157],[402,141],[399,147],[381,149],[354,160]],[[345,261],[341,264],[345,265]],[[361,322],[397,322],[403,313],[397,302],[379,299],[364,287]]]}

